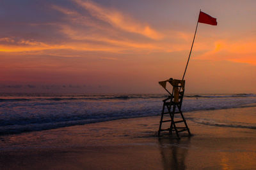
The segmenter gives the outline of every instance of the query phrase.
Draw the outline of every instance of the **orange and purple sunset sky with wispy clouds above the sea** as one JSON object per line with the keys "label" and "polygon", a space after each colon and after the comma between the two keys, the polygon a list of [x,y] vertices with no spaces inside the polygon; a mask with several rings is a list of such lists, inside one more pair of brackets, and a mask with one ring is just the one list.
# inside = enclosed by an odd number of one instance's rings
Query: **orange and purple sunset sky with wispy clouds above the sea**
{"label": "orange and purple sunset sky with wispy clouds above the sea", "polygon": [[0,92],[256,93],[256,1],[1,0]]}

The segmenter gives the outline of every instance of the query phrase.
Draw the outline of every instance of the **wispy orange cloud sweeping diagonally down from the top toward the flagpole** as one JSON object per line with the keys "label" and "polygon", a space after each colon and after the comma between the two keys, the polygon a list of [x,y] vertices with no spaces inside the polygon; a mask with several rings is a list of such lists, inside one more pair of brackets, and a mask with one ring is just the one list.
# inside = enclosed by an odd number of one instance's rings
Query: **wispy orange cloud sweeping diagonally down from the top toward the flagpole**
{"label": "wispy orange cloud sweeping diagonally down from the top toward the flagpole", "polygon": [[[76,3],[84,6],[84,9],[89,11],[93,17],[96,17],[104,22],[99,22],[92,17],[81,15],[77,11],[72,11],[60,6],[51,6],[54,10],[58,10],[66,15],[67,23],[56,24],[60,27],[60,31],[70,38],[68,44],[84,45],[92,43],[96,46],[101,46],[100,49],[112,49],[113,53],[127,53],[127,52],[177,52],[182,50],[189,50],[189,44],[193,33],[182,31],[170,31],[167,29],[164,32],[157,32],[165,35],[162,39],[157,39],[154,36],[154,31],[147,25],[140,24],[138,21],[131,20],[131,18],[123,15],[119,11],[109,10],[92,3],[77,0]],[[114,17],[113,17],[114,16]],[[113,19],[114,18],[114,19]],[[111,25],[113,26],[111,26]],[[117,25],[117,26],[116,26]],[[127,27],[124,27],[124,26]],[[129,32],[135,32],[143,35],[156,37],[156,39],[145,39],[140,36],[127,35],[125,29],[130,29]],[[136,29],[139,31],[135,31]],[[142,33],[141,33],[142,32]],[[148,37],[147,36],[147,37]],[[184,40],[186,43],[184,43]],[[188,43],[189,42],[189,43]],[[75,46],[74,48],[77,48]],[[110,51],[109,51],[110,52]]]}

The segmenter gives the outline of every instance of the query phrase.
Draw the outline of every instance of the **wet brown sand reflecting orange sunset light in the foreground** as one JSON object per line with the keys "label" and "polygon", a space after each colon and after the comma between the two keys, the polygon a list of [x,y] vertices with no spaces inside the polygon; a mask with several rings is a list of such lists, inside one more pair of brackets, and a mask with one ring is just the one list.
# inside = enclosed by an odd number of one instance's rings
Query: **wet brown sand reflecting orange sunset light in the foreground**
{"label": "wet brown sand reflecting orange sunset light in the foreground", "polygon": [[255,107],[184,115],[190,138],[158,138],[160,117],[1,136],[0,169],[256,168]]}

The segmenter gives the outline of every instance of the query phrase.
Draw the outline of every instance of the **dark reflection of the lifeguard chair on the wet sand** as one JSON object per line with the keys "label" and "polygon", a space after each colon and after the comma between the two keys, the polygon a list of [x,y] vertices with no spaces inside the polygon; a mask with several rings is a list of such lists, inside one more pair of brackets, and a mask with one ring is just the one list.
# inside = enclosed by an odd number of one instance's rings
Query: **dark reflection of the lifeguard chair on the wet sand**
{"label": "dark reflection of the lifeguard chair on the wet sand", "polygon": [[163,169],[186,169],[185,159],[188,154],[190,138],[159,138],[159,150]]}

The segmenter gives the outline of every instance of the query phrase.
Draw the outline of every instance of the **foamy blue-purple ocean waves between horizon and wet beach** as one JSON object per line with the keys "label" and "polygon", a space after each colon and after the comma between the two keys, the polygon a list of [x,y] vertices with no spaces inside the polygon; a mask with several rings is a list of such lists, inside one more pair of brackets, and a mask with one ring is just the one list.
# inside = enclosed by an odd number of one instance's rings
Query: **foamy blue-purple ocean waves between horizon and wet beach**
{"label": "foamy blue-purple ocean waves between horizon and wet beach", "polygon": [[[0,135],[156,116],[161,113],[165,97],[164,94],[0,94]],[[186,116],[189,111],[255,106],[256,94],[186,94],[182,111]]]}

